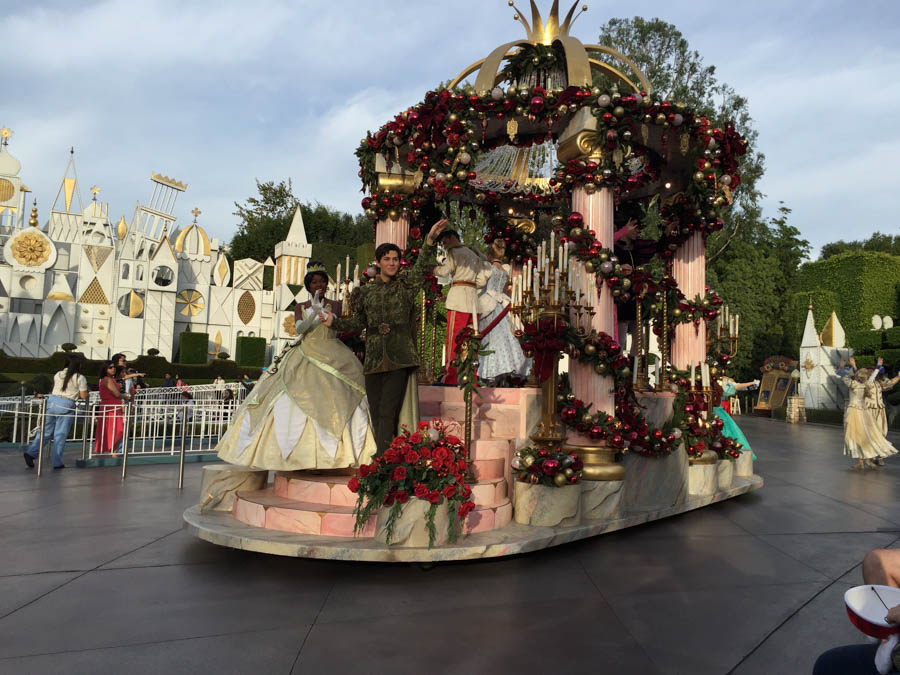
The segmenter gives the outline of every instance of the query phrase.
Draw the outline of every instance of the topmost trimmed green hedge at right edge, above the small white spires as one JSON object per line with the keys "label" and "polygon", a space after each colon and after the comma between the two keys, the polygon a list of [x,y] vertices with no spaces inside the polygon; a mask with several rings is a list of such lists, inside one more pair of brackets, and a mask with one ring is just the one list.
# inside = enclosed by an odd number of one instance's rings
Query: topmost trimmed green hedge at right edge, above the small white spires
{"label": "topmost trimmed green hedge at right edge, above the small white spires", "polygon": [[[824,290],[834,293],[835,311],[844,330],[871,328],[872,316],[897,315],[897,285],[900,284],[900,256],[872,251],[851,251],[800,266],[798,291]],[[815,303],[815,299],[813,299]],[[822,308],[825,309],[824,307]],[[813,311],[821,314],[815,304]]]}

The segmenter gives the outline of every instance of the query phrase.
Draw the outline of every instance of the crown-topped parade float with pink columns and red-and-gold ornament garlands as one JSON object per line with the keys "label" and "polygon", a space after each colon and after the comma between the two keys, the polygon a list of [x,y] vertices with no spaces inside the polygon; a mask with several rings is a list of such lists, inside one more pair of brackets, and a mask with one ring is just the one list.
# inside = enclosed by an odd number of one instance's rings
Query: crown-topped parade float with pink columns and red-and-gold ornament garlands
{"label": "crown-topped parade float with pink columns and red-and-gold ornament garlands", "polygon": [[[286,556],[475,559],[762,486],[750,453],[710,412],[740,325],[706,285],[706,238],[723,227],[746,141],[732,124],[652,91],[626,55],[573,37],[577,9],[561,17],[557,0],[544,18],[532,2],[531,21],[516,10],[527,38],[428,92],[357,151],[376,245],[398,245],[403,265],[416,259],[435,207],[483,223],[486,244],[504,240],[530,385],[480,386],[477,329],[461,336],[460,386],[429,384],[446,364],[440,287],[428,283],[417,328],[420,428],[357,475],[205,467],[201,502],[184,515],[198,537]],[[614,221],[637,204],[652,206],[660,227],[652,261],[632,267],[613,250]],[[617,336],[624,303],[636,314],[630,350]],[[434,472],[438,448],[456,469]],[[435,476],[445,482],[424,486]]]}

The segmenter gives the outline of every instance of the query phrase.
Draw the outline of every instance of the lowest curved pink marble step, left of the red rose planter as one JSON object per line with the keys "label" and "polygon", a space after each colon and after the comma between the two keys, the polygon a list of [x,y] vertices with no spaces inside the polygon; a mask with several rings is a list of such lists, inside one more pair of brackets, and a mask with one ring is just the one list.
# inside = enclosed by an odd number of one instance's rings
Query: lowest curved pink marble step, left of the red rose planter
{"label": "lowest curved pink marble step, left of the red rose planter", "polygon": [[[233,513],[237,520],[247,525],[328,537],[353,537],[356,523],[352,507],[285,499],[271,490],[239,492]],[[359,536],[374,535],[375,521],[372,519]]]}

